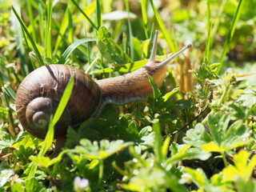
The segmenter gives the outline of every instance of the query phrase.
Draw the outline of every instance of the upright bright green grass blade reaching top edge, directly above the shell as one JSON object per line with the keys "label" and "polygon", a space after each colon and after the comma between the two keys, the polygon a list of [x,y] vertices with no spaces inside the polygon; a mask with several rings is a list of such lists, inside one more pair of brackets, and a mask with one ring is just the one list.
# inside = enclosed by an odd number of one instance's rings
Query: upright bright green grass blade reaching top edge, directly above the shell
{"label": "upright bright green grass blade reaching top edge, directly above the shell", "polygon": [[51,54],[51,22],[53,14],[53,0],[46,2],[47,6],[47,18],[46,18],[46,57],[52,58]]}

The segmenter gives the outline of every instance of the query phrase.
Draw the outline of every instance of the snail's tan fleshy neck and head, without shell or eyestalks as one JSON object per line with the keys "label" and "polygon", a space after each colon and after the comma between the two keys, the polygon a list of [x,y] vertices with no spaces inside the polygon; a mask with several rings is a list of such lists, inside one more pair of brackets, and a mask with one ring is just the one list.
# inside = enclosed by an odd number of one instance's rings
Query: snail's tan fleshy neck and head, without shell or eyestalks
{"label": "snail's tan fleshy neck and head, without shell or eyestalks", "polygon": [[144,101],[153,93],[147,74],[161,86],[167,69],[167,66],[156,67],[155,63],[148,63],[130,74],[96,81],[102,92],[102,103],[125,105]]}

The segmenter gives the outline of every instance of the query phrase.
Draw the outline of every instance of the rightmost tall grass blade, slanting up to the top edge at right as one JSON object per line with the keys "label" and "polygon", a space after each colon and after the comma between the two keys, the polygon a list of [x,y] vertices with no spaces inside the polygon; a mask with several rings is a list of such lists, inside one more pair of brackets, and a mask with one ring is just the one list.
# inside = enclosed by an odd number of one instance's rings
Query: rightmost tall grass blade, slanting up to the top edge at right
{"label": "rightmost tall grass blade, slanting up to the top edge at right", "polygon": [[230,47],[230,42],[232,41],[232,38],[234,35],[234,30],[235,30],[235,27],[237,26],[238,19],[240,18],[240,14],[242,12],[242,6],[244,5],[244,2],[246,2],[246,1],[240,0],[238,3],[237,10],[235,11],[234,18],[233,18],[232,24],[230,26],[229,34],[227,35],[226,42],[225,42],[225,45],[224,45],[224,48],[222,51],[222,56],[219,61],[220,65],[218,66],[218,69],[216,71],[217,74],[219,73],[219,70],[222,68],[222,64],[223,64],[223,60],[226,56],[226,52],[227,52],[228,48]]}

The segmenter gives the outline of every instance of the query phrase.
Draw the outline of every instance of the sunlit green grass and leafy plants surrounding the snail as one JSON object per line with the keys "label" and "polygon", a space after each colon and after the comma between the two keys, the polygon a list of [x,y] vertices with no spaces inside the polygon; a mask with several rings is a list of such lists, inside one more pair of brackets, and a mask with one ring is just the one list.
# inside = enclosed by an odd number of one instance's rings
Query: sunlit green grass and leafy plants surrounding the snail
{"label": "sunlit green grass and leafy plants surrounding the snail", "polygon": [[[161,3],[0,2],[0,191],[255,191],[256,3]],[[161,87],[149,77],[150,98],[70,126],[53,158],[74,76],[46,138],[22,128],[15,93],[30,71],[62,63],[94,79],[127,74],[150,58],[154,30],[158,59],[193,47]]]}

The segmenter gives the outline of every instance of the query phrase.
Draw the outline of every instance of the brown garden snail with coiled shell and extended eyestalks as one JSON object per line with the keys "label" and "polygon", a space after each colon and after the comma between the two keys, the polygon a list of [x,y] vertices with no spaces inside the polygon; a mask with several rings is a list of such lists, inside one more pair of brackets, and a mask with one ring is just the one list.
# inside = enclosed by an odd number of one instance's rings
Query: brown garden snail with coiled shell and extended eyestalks
{"label": "brown garden snail with coiled shell and extended eyestalks", "polygon": [[18,87],[15,106],[22,127],[37,138],[45,138],[50,115],[57,110],[67,83],[74,74],[74,88],[62,117],[54,127],[54,138],[65,137],[68,126],[78,127],[96,117],[107,103],[124,105],[140,102],[152,94],[147,74],[161,86],[167,64],[188,45],[163,62],[156,60],[158,31],[155,33],[149,62],[142,68],[114,78],[94,81],[72,66],[52,64],[32,71]]}

